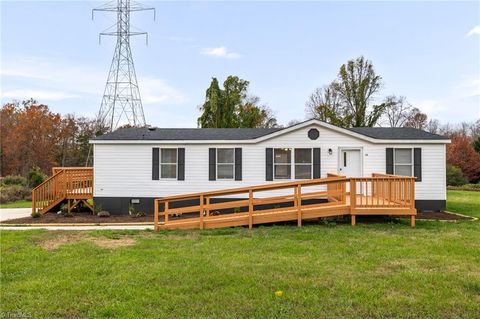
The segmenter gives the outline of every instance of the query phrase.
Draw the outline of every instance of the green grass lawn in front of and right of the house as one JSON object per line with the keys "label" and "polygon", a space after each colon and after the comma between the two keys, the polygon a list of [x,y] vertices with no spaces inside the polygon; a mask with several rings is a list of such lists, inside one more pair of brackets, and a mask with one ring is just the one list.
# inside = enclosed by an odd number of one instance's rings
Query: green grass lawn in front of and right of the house
{"label": "green grass lawn in front of and right of the house", "polygon": [[[480,217],[480,193],[448,209]],[[121,247],[122,241],[133,246]],[[116,242],[117,247],[99,242]],[[3,314],[35,318],[474,318],[480,222],[205,231],[3,231]],[[52,247],[53,244],[61,244]],[[55,246],[55,245],[53,245]],[[275,291],[284,292],[275,297]]]}

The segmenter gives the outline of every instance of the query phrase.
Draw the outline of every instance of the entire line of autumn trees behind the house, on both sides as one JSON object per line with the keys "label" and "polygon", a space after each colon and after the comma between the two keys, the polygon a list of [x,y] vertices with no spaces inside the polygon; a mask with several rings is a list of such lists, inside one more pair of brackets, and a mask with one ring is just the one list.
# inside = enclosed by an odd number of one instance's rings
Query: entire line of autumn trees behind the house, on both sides
{"label": "entire line of autumn trees behind the house, on both sides", "polygon": [[[249,81],[234,75],[228,76],[222,85],[213,78],[204,102],[198,106],[197,125],[202,128],[280,126],[272,109],[250,93],[249,85]],[[436,119],[429,119],[404,96],[379,99],[383,87],[383,79],[371,61],[364,57],[349,60],[340,66],[332,82],[309,96],[305,117],[346,128],[413,127],[446,135],[452,139],[447,146],[447,161],[455,167],[456,175],[460,180],[480,180],[480,119],[442,125]],[[88,141],[108,131],[96,119],[54,113],[33,99],[6,103],[0,116],[0,176],[26,176],[35,167],[48,174],[53,166],[91,165]]]}

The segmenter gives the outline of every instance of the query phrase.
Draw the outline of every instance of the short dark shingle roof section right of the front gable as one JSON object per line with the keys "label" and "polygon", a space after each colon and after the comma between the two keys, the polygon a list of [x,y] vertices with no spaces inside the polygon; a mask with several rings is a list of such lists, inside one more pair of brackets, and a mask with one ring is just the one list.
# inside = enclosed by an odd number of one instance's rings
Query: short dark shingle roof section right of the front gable
{"label": "short dark shingle roof section right of the front gable", "polygon": [[445,136],[411,127],[352,127],[348,130],[371,138],[384,140],[448,140]]}

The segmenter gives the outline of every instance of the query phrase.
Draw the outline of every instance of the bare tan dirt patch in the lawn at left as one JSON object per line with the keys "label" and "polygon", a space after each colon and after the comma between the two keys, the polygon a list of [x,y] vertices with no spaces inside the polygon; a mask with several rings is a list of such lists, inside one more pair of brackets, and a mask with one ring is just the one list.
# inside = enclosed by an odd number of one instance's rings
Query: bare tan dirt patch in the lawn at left
{"label": "bare tan dirt patch in the lawn at left", "polygon": [[45,250],[52,251],[58,249],[60,246],[76,244],[81,241],[90,241],[98,247],[107,249],[116,249],[121,247],[133,246],[136,241],[130,237],[121,237],[118,239],[111,239],[106,237],[93,237],[82,232],[70,232],[56,234],[55,236],[41,240],[38,244]]}

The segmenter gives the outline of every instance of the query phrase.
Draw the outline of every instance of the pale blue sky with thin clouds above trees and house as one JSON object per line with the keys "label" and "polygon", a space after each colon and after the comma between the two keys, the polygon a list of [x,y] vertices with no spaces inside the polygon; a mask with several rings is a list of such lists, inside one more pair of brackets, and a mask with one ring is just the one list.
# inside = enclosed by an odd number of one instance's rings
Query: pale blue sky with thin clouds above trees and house
{"label": "pale blue sky with thin clouds above trees and house", "polygon": [[[3,1],[1,102],[34,98],[93,117],[115,40],[99,32],[102,1]],[[306,119],[305,102],[349,59],[371,60],[383,87],[442,123],[480,118],[480,2],[143,1],[149,34],[131,41],[148,124],[196,127],[212,77],[237,75],[280,124]]]}

